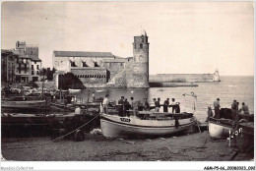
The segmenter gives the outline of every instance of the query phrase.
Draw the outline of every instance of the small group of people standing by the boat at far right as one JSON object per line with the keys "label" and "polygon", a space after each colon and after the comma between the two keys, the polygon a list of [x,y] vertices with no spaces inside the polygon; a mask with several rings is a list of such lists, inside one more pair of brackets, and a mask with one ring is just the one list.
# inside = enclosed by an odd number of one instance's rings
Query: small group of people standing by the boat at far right
{"label": "small group of people standing by the boat at far right", "polygon": [[[216,101],[214,101],[214,109],[215,109],[215,118],[220,119],[220,98],[217,98]],[[239,109],[239,102],[237,102],[235,99],[233,100],[231,104],[232,113],[234,114],[249,114],[249,108],[248,105],[246,105],[244,102],[242,102],[242,107]]]}

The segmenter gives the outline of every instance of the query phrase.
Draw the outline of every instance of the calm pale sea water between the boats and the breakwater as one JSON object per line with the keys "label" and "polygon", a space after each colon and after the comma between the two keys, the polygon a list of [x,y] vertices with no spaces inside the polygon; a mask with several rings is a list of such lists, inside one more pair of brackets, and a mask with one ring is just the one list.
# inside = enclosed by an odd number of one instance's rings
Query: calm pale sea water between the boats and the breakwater
{"label": "calm pale sea water between the boats and the breakwater", "polygon": [[[208,106],[212,106],[217,98],[220,98],[222,108],[230,108],[235,99],[244,102],[249,107],[249,112],[254,113],[254,77],[253,76],[223,76],[221,82],[216,83],[195,83],[198,86],[179,87],[150,87],[150,88],[86,88],[79,93],[74,93],[80,101],[92,101],[92,93],[96,98],[109,95],[109,100],[118,101],[121,96],[130,101],[143,101],[147,98],[153,103],[153,98],[160,97],[162,104],[166,98],[175,98],[180,102],[181,112],[194,112],[194,116],[200,122],[205,122]],[[194,94],[193,96],[191,94]],[[171,109],[169,109],[170,111]],[[162,107],[160,108],[162,111]]]}

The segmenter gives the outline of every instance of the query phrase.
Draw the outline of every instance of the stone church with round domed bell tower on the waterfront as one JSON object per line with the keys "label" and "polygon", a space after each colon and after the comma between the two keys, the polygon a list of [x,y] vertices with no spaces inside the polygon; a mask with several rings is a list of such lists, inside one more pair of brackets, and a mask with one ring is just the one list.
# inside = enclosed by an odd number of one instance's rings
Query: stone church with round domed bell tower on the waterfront
{"label": "stone church with round domed bell tower on the waterfront", "polygon": [[149,87],[149,42],[147,33],[134,37],[133,57],[111,52],[53,51],[55,82],[58,75],[73,73],[86,87]]}

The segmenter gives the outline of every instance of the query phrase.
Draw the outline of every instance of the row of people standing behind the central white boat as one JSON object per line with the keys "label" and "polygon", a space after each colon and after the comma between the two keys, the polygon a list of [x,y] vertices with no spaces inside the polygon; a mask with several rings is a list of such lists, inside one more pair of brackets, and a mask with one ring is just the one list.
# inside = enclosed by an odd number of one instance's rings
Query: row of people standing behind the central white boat
{"label": "row of people standing behind the central white boat", "polygon": [[[108,106],[109,106],[109,95],[106,94],[105,98],[103,99],[102,106],[104,113],[108,113]],[[164,100],[164,103],[160,104],[160,97],[158,100],[156,98],[153,99],[155,102],[155,111],[160,112],[160,106],[163,106],[163,112],[168,112],[168,108],[172,107],[172,113],[180,113],[179,102],[176,102],[174,98],[171,99],[169,102],[169,98]],[[141,100],[135,101],[134,97],[131,97],[128,101],[127,98],[121,96],[121,98],[117,102],[117,110],[119,116],[130,116],[130,112],[133,111],[150,111],[151,107],[147,100],[144,98],[143,102]]]}

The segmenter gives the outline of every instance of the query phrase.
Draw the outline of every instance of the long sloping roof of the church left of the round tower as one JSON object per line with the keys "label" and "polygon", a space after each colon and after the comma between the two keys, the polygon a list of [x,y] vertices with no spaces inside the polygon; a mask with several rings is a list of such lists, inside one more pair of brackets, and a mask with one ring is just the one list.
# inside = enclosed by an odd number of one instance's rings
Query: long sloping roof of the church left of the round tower
{"label": "long sloping roof of the church left of the round tower", "polygon": [[55,57],[114,57],[111,52],[53,51]]}

